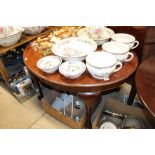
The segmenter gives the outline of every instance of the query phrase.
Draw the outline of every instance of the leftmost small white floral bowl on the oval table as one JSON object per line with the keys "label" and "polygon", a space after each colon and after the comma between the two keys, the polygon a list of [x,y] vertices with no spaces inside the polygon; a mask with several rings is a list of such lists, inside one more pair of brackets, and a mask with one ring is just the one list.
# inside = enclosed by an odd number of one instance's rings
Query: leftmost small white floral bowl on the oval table
{"label": "leftmost small white floral bowl on the oval table", "polygon": [[37,67],[46,73],[54,73],[62,63],[62,59],[57,56],[46,56],[38,60]]}

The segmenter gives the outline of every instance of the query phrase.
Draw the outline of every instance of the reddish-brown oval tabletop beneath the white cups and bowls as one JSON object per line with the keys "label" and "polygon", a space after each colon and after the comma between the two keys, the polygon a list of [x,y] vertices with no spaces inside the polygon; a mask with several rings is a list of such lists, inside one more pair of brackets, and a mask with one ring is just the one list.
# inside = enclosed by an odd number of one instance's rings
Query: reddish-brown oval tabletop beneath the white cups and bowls
{"label": "reddish-brown oval tabletop beneath the white cups and bowls", "polygon": [[118,72],[110,75],[108,81],[95,79],[88,71],[85,71],[77,79],[68,79],[61,75],[59,71],[54,74],[47,74],[37,68],[37,61],[42,57],[43,55],[34,51],[31,46],[28,46],[23,54],[25,65],[40,80],[52,87],[71,92],[95,92],[115,88],[130,77],[138,66],[138,59],[134,54],[134,58],[128,63],[123,63],[123,67]]}

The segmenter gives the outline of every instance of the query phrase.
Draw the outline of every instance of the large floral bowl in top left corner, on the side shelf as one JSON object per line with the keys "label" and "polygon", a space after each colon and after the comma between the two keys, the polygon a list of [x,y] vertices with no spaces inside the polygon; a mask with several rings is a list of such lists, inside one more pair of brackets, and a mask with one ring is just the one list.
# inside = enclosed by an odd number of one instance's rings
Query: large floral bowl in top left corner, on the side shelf
{"label": "large floral bowl in top left corner, on the side shelf", "polygon": [[0,45],[11,46],[18,42],[24,29],[22,27],[1,27],[0,28]]}

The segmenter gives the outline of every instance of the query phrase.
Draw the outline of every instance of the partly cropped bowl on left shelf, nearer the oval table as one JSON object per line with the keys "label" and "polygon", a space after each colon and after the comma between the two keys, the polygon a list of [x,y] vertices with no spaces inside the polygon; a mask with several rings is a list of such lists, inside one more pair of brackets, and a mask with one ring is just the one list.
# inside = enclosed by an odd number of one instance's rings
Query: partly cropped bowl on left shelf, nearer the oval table
{"label": "partly cropped bowl on left shelf, nearer the oval table", "polygon": [[24,27],[24,33],[29,34],[29,35],[35,35],[39,34],[42,31],[44,31],[46,26],[31,26],[31,27]]}

